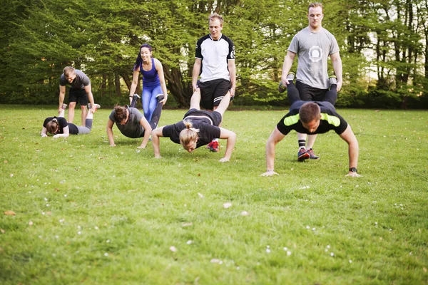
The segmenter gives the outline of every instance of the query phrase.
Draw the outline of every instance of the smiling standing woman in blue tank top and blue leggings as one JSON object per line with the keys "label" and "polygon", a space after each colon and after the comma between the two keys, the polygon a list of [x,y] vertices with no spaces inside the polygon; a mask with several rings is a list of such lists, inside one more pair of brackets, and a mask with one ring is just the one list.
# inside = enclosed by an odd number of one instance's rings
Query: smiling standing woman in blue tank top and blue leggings
{"label": "smiling standing woman in blue tank top and blue leggings", "polygon": [[132,84],[129,90],[129,103],[131,107],[135,107],[133,106],[133,96],[136,92],[140,73],[143,75],[141,103],[143,103],[144,117],[150,122],[158,102],[165,105],[168,94],[166,93],[162,63],[158,59],[152,58],[152,47],[147,43],[144,43],[140,47],[136,63],[134,64]]}

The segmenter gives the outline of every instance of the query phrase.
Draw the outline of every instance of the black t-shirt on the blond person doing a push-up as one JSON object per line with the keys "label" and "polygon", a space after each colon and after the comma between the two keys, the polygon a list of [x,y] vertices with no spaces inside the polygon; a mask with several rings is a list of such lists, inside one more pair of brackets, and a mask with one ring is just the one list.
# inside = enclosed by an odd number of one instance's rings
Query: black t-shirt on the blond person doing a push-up
{"label": "black t-shirt on the blond person doing a push-up", "polygon": [[[213,113],[210,113],[205,110],[195,110],[191,109],[188,113],[185,114],[184,118],[190,120],[193,124],[193,128],[198,129],[198,142],[196,143],[196,148],[203,145],[208,145],[215,138],[220,138],[220,128],[213,124],[218,124]],[[162,130],[162,135],[165,138],[170,138],[175,143],[180,144],[180,132],[185,129],[183,121],[175,123],[173,125],[165,125]]]}

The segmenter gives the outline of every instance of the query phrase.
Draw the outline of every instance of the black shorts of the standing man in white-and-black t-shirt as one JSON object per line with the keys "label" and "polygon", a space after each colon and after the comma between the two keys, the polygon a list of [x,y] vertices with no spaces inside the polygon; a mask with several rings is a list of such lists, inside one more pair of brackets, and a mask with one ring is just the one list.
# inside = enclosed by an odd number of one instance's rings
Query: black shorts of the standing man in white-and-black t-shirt
{"label": "black shorts of the standing man in white-and-black t-shirt", "polygon": [[213,110],[229,92],[230,81],[226,79],[215,79],[206,82],[198,81],[198,87],[200,88],[200,105],[204,109]]}

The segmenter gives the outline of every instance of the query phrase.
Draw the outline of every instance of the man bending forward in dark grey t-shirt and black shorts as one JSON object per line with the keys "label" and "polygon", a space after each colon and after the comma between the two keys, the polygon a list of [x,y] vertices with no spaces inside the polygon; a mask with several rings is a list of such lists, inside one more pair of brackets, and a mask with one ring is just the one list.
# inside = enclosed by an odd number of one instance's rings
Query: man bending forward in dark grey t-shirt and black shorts
{"label": "man bending forward in dark grey t-shirt and black shorts", "polygon": [[80,103],[82,109],[81,125],[85,125],[86,115],[88,114],[88,100],[91,103],[92,113],[95,113],[95,103],[93,102],[91,81],[83,71],[66,66],[63,74],[59,78],[59,107],[58,113],[61,113],[64,97],[66,95],[66,85],[70,85],[68,91],[68,123],[73,123],[74,108],[76,103]]}

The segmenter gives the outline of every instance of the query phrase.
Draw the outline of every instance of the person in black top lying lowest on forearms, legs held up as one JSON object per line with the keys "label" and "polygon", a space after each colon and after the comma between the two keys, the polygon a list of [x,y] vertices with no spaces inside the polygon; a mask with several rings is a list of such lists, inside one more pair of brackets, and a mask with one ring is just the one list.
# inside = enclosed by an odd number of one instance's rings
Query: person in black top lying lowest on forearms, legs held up
{"label": "person in black top lying lowest on forearms, legs held up", "polygon": [[[48,133],[54,135],[54,138],[67,138],[68,135],[85,135],[91,132],[93,113],[91,105],[88,105],[88,113],[86,114],[85,125],[74,125],[72,123],[67,123],[66,118],[64,118],[64,113],[67,105],[63,104],[61,111],[58,117],[49,117],[44,120],[43,128],[41,129],[41,137],[47,137]],[[95,104],[95,109],[101,108],[100,105]]]}

